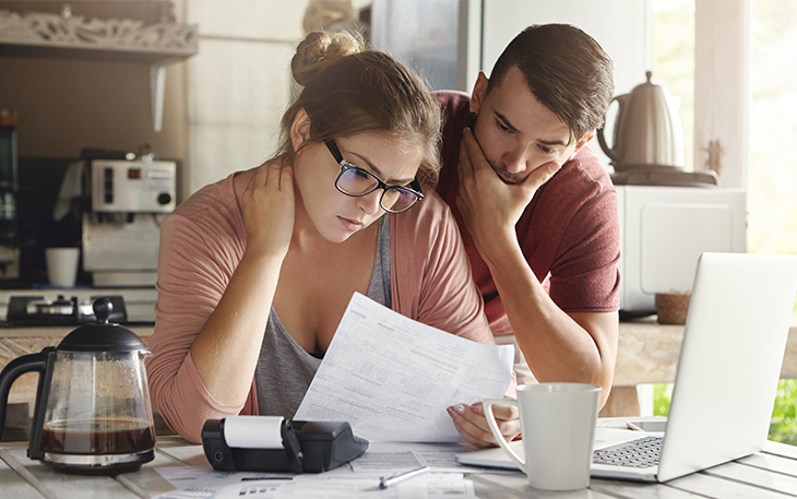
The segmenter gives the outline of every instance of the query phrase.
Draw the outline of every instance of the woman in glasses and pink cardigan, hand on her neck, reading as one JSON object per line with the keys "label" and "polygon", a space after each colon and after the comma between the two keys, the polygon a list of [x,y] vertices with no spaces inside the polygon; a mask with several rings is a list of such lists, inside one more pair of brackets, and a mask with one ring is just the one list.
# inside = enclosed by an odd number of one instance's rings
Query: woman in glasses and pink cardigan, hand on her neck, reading
{"label": "woman in glasses and pink cardigan, hand on her neck, reading", "polygon": [[[440,111],[423,82],[347,34],[309,35],[292,69],[304,90],[277,156],[201,189],[162,227],[147,375],[155,406],[192,441],[210,418],[293,417],[354,292],[493,343],[430,187]],[[488,444],[483,415],[457,408],[460,432]],[[508,409],[510,437],[516,417]]]}

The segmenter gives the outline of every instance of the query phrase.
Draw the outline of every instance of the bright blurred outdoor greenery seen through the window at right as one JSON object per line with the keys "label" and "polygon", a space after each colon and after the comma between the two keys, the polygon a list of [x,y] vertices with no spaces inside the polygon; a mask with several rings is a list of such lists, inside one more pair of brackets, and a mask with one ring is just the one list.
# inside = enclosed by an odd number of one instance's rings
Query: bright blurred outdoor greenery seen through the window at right
{"label": "bright blurred outdoor greenery seen through the window at right", "polygon": [[[748,163],[748,251],[797,254],[797,2],[752,1]],[[694,0],[653,0],[653,76],[680,100],[687,170],[693,164]],[[797,307],[793,316],[797,324]],[[653,389],[654,415],[666,416],[673,384]],[[770,438],[797,444],[797,380],[781,380]]]}

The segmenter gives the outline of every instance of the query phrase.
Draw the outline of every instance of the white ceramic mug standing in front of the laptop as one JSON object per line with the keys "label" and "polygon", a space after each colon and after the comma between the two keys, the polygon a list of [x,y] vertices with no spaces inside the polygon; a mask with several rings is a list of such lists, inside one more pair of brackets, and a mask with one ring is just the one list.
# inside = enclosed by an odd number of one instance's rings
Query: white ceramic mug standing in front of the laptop
{"label": "white ceramic mug standing in front of the laptop", "polygon": [[[501,435],[493,404],[520,409],[525,459]],[[593,439],[600,404],[600,387],[582,383],[539,383],[518,387],[518,400],[484,401],[490,431],[528,477],[545,490],[576,490],[590,485]]]}

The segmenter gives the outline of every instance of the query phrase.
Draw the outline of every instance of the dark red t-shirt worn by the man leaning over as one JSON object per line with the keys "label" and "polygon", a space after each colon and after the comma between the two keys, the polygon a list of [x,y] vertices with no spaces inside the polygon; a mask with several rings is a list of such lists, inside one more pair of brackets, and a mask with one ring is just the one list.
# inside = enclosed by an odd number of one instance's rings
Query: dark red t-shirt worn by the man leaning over
{"label": "dark red t-shirt worn by the man leaning over", "polygon": [[[437,191],[451,206],[460,226],[492,333],[511,333],[490,271],[456,206],[462,131],[473,127],[475,119],[468,107],[469,96],[448,91],[435,95],[445,114],[443,167]],[[559,308],[566,312],[608,312],[619,308],[617,191],[588,147],[582,147],[537,190],[515,228],[526,261]]]}

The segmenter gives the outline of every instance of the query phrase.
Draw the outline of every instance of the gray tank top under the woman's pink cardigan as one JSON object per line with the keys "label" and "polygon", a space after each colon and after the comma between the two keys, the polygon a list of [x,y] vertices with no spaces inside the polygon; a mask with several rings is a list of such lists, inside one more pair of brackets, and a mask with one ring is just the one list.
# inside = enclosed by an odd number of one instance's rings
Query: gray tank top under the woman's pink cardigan
{"label": "gray tank top under the woman's pink cardigan", "polygon": [[[390,218],[379,222],[377,257],[373,261],[368,297],[390,308]],[[293,418],[310,387],[321,359],[305,351],[288,333],[271,308],[260,347],[254,384],[261,415]]]}

